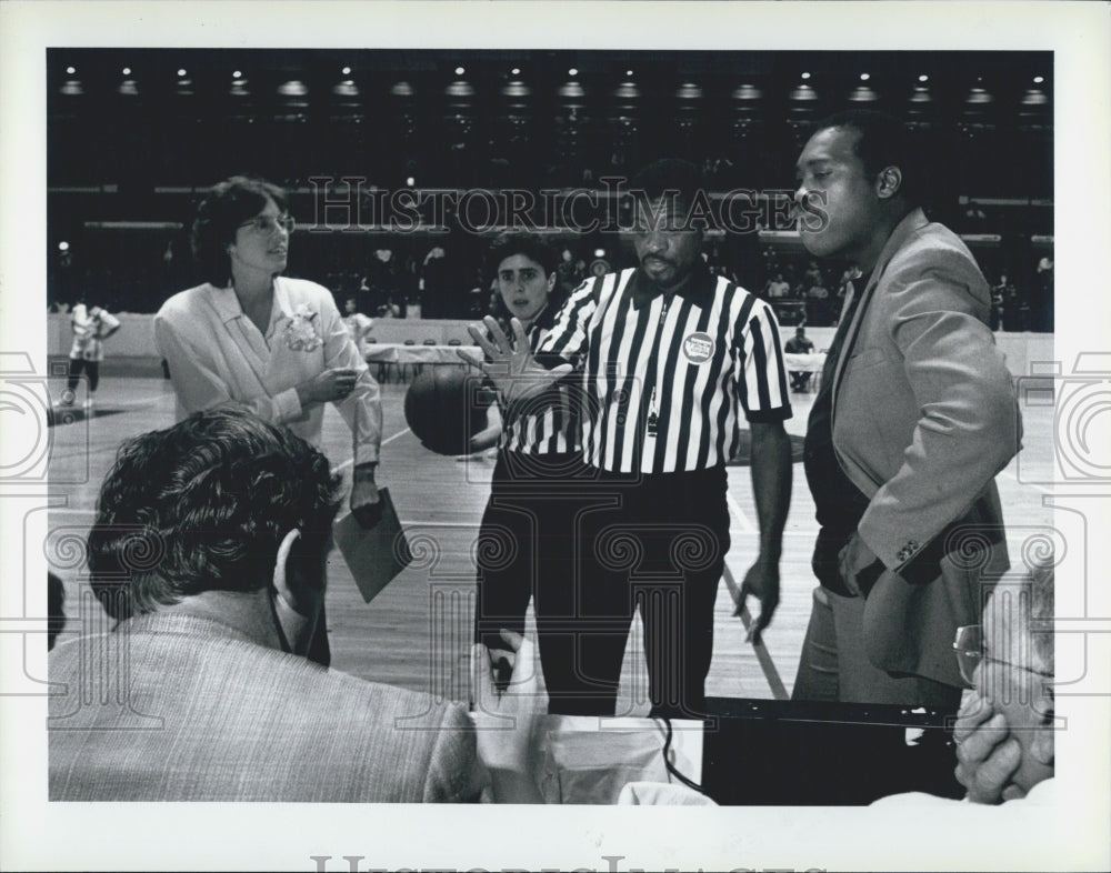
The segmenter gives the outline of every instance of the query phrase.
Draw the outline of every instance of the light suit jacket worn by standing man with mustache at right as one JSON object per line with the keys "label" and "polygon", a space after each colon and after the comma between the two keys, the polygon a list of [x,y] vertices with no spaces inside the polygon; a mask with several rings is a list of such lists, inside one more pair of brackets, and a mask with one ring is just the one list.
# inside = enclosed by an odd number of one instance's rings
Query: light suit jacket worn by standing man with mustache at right
{"label": "light suit jacket worn by standing man with mustache at right", "polygon": [[888,569],[868,596],[865,646],[889,672],[961,685],[955,629],[979,623],[981,582],[1009,566],[994,476],[1019,450],[1014,388],[975,260],[921,210],[895,228],[863,293],[832,427],[870,500],[858,532]]}

